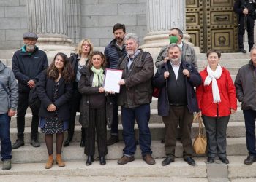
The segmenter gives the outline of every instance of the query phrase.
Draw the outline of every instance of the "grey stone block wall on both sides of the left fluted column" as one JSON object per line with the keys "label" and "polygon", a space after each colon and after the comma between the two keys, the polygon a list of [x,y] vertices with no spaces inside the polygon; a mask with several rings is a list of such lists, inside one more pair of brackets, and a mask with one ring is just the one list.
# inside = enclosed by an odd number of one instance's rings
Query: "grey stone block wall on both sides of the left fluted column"
{"label": "grey stone block wall on both sides of the left fluted column", "polygon": [[[11,58],[23,45],[28,30],[26,0],[0,1],[0,58]],[[146,36],[146,0],[80,0],[81,39],[105,47],[113,39],[115,23],[124,23],[143,44]]]}

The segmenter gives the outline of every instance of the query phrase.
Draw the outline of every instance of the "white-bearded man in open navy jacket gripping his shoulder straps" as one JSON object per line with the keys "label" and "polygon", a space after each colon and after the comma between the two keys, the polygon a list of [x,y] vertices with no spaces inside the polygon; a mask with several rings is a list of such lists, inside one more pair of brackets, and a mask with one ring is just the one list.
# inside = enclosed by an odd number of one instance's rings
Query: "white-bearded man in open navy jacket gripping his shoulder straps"
{"label": "white-bearded man in open navy jacket gripping his shoulder straps", "polygon": [[190,136],[193,112],[198,112],[194,87],[201,84],[202,79],[192,64],[181,60],[182,50],[178,44],[167,47],[170,60],[164,63],[154,76],[154,87],[160,89],[158,98],[158,114],[165,124],[165,153],[162,165],[174,162],[176,136],[178,126],[181,132],[183,158],[189,165],[194,166],[194,149]]}

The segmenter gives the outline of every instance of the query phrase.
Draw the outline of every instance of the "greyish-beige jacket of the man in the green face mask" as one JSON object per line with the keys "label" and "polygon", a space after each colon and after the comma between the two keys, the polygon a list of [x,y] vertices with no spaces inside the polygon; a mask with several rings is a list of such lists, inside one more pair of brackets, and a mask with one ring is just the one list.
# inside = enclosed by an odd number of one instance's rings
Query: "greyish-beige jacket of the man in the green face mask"
{"label": "greyish-beige jacket of the man in the green face mask", "polygon": [[[197,66],[197,55],[195,55],[195,50],[193,47],[189,46],[189,44],[185,43],[182,41],[183,47],[182,47],[182,60],[186,61],[189,64],[192,64],[194,68],[198,71],[198,66]],[[157,56],[156,60],[156,67],[159,68],[163,65],[164,59],[167,56],[167,46],[162,47],[162,49],[159,52],[159,55]]]}

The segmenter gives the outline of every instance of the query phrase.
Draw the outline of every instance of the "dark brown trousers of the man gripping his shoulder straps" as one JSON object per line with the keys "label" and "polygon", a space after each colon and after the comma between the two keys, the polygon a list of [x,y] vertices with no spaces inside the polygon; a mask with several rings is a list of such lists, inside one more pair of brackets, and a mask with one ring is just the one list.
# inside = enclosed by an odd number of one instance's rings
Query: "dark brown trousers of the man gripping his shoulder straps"
{"label": "dark brown trousers of the man gripping his shoulder straps", "polygon": [[187,106],[170,106],[169,116],[163,116],[162,121],[165,124],[165,153],[167,156],[175,158],[176,138],[178,135],[178,126],[181,132],[181,143],[183,146],[183,157],[194,156],[194,149],[191,140],[191,127],[193,114],[189,113]]}

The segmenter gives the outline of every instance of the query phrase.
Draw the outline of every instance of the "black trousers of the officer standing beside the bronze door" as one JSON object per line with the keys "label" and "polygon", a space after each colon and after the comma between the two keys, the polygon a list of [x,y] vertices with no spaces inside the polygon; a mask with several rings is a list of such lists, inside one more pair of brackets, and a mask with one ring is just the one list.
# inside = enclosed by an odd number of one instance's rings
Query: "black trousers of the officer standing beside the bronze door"
{"label": "black trousers of the officer standing beside the bronze door", "polygon": [[[254,27],[255,27],[255,19],[250,17],[249,15],[246,16],[247,20],[247,33],[248,33],[248,44],[249,49],[253,47],[254,42]],[[244,33],[245,33],[245,17],[239,17],[239,24],[238,24],[238,47],[239,49],[244,48]]]}

